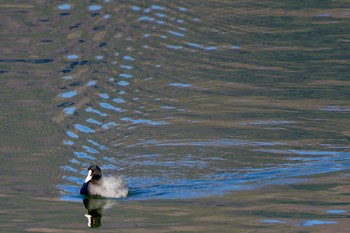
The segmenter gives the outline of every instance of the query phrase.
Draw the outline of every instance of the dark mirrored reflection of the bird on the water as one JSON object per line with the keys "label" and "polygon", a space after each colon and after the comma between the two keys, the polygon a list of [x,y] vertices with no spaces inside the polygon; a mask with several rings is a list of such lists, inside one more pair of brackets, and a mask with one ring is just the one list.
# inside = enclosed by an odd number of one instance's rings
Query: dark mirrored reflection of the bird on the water
{"label": "dark mirrored reflection of the bird on the water", "polygon": [[85,198],[83,203],[88,210],[85,217],[90,228],[99,228],[101,226],[102,212],[116,205],[116,201],[95,197]]}

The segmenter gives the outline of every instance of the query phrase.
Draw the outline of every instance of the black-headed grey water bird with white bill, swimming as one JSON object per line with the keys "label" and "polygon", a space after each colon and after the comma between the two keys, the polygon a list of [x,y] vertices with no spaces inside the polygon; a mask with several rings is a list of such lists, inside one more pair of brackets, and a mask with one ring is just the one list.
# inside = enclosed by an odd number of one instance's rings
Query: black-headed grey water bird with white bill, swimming
{"label": "black-headed grey water bird with white bill, swimming", "polygon": [[128,192],[128,186],[121,177],[105,176],[97,165],[88,168],[88,175],[80,189],[81,195],[111,198],[126,197]]}

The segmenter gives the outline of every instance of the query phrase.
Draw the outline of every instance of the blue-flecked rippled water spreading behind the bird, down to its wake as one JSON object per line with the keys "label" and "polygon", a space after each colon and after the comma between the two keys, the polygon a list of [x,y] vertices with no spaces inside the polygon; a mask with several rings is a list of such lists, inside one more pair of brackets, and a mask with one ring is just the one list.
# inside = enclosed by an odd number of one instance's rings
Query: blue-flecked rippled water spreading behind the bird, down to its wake
{"label": "blue-flecked rippled water spreading behind the bird, down to its wake", "polygon": [[322,83],[345,78],[329,75],[345,71],[326,64],[346,54],[334,53],[341,45],[327,43],[332,27],[323,25],[348,20],[347,11],[300,22],[303,10],[278,4],[250,18],[256,9],[242,3],[107,2],[80,6],[87,16],[75,22],[78,6],[63,6],[61,30],[79,34],[61,54],[57,121],[72,147],[64,193],[78,193],[89,163],[124,174],[137,199],[223,195],[347,169],[345,137],[319,127],[338,112],[332,100],[348,95]]}

